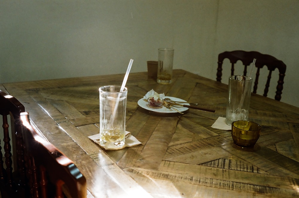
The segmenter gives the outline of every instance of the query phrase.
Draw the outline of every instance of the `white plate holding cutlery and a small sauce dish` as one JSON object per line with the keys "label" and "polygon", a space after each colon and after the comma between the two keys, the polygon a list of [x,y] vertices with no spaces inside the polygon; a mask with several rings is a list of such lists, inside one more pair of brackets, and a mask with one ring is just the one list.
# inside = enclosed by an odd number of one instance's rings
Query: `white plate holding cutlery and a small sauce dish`
{"label": "white plate holding cutlery and a small sauce dish", "polygon": [[[180,99],[180,98],[175,98],[175,97],[171,97],[171,96],[165,96],[164,98],[170,98],[171,100],[178,101],[178,102],[186,102],[186,103],[181,103],[181,105],[189,105],[189,103],[187,101]],[[141,98],[140,100],[138,100],[138,105],[146,110],[154,111],[157,113],[178,113],[178,112],[176,112],[176,110],[173,110],[171,108],[168,109],[164,106],[160,109],[150,108],[149,103],[144,98]],[[174,108],[176,108],[180,112],[183,112],[183,111],[186,111],[189,109],[189,108],[183,107],[183,106],[174,106]]]}

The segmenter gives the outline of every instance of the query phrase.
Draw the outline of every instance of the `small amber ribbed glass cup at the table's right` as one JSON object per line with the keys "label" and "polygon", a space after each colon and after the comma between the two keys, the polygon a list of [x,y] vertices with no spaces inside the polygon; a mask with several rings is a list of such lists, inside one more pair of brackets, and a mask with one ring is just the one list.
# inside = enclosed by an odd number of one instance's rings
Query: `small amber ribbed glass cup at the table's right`
{"label": "small amber ribbed glass cup at the table's right", "polygon": [[234,144],[242,148],[252,148],[260,137],[261,126],[255,122],[239,120],[231,124]]}

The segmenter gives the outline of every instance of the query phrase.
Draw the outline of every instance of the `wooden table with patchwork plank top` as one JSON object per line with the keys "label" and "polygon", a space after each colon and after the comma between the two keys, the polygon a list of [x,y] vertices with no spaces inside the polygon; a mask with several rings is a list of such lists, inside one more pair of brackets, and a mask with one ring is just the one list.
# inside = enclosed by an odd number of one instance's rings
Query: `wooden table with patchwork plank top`
{"label": "wooden table with patchwork plank top", "polygon": [[[32,124],[86,176],[89,197],[299,197],[299,108],[252,94],[249,119],[263,126],[253,149],[233,144],[231,132],[211,128],[225,117],[227,85],[174,70],[171,85],[131,73],[126,130],[142,145],[105,151],[99,133],[102,85],[124,74],[8,83]],[[159,114],[137,101],[154,89],[215,109]]]}

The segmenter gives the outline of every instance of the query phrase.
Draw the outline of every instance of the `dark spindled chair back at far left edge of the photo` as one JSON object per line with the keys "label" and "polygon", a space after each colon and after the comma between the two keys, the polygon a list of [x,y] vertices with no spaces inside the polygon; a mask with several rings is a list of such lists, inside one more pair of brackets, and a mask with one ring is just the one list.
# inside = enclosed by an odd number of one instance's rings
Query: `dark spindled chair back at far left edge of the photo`
{"label": "dark spindled chair back at far left edge of the photo", "polygon": [[[15,196],[18,191],[17,187],[25,185],[23,137],[19,122],[20,113],[24,111],[24,106],[16,98],[0,90],[0,114],[4,137],[3,142],[0,140],[0,190],[2,198]],[[12,124],[8,122],[9,117]],[[10,144],[10,142],[12,143]],[[13,152],[14,157],[12,157],[12,150],[15,151]],[[3,160],[3,158],[5,159]],[[13,170],[14,167],[16,167],[15,170]]]}

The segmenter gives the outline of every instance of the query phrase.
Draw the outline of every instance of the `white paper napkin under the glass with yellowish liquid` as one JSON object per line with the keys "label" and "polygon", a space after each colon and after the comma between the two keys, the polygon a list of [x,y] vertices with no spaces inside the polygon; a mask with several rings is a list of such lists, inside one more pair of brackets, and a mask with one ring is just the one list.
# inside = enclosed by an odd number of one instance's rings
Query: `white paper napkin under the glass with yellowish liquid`
{"label": "white paper napkin under the glass with yellowish liquid", "polygon": [[97,133],[95,135],[88,136],[88,137],[89,137],[89,139],[91,139],[92,141],[97,143],[100,147],[102,147],[106,150],[118,150],[118,149],[123,149],[123,148],[126,148],[126,147],[132,147],[132,146],[136,146],[136,145],[141,144],[141,142],[139,142],[138,139],[136,139],[134,136],[132,136],[131,132],[129,132],[129,131],[126,131],[125,144],[122,147],[119,147],[119,148],[117,148],[112,143],[109,144],[109,148],[100,145],[100,133]]}

